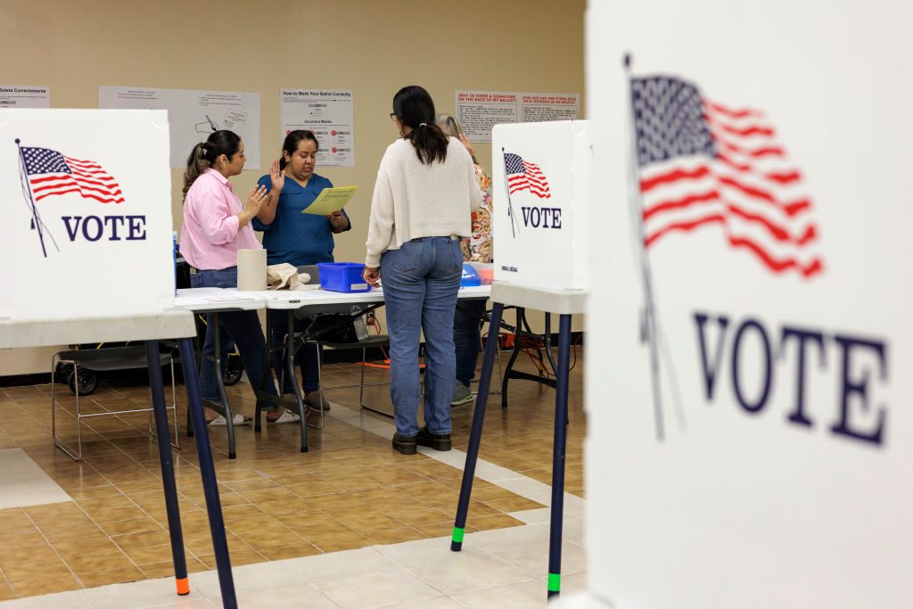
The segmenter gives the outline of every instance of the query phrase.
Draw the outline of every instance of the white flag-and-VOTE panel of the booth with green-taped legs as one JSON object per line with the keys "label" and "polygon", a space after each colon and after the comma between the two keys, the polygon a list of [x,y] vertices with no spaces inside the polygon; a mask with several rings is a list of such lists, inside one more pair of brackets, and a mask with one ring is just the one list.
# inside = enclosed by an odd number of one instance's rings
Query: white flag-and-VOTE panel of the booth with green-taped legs
{"label": "white flag-and-VOTE panel of the booth with green-taped legs", "polygon": [[496,125],[491,142],[495,280],[583,289],[593,157],[587,121]]}

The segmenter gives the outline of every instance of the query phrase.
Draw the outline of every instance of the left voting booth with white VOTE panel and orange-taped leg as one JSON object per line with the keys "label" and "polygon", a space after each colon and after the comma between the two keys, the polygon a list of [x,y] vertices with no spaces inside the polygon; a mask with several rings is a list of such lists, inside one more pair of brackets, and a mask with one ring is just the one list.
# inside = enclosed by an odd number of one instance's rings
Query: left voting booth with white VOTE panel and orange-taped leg
{"label": "left voting booth with white VOTE panel and orange-taped leg", "polygon": [[[193,313],[173,309],[175,275],[164,110],[0,110],[0,349],[104,341],[144,343],[176,592],[190,593],[164,400],[159,341],[176,340],[194,427],[205,429],[191,338]],[[135,349],[131,347],[131,349]],[[142,351],[142,347],[139,348]],[[94,351],[92,353],[95,353]],[[142,360],[142,353],[140,353]],[[75,359],[74,359],[75,362]],[[76,370],[74,368],[74,376]],[[50,440],[51,438],[48,438]],[[236,607],[212,452],[196,439],[226,607]]]}

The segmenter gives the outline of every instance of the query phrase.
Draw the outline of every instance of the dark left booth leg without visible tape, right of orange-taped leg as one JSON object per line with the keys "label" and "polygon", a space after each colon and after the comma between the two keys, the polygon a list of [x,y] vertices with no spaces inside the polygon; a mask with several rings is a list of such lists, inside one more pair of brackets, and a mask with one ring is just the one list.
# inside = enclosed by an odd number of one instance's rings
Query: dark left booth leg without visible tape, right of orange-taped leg
{"label": "dark left booth leg without visible tape, right of orange-taped leg", "polygon": [[209,531],[213,536],[215,569],[219,575],[222,604],[227,609],[236,609],[235,580],[231,574],[226,526],[225,521],[222,520],[222,502],[219,501],[219,488],[215,482],[213,451],[209,446],[209,435],[205,433],[203,400],[200,397],[200,385],[196,380],[196,367],[194,366],[194,346],[190,339],[181,339],[178,344],[181,349],[181,365],[184,367],[184,379],[187,386],[187,409],[190,411],[194,426],[203,430],[196,439],[196,455],[200,461],[200,477],[203,478],[206,514],[209,517]]}

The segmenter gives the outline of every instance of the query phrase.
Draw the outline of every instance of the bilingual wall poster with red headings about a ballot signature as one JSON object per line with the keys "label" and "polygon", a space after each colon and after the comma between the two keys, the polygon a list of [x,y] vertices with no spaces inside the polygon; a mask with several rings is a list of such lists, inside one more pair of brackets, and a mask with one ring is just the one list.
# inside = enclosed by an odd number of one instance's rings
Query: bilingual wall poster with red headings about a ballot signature
{"label": "bilingual wall poster with red headings about a ballot signature", "polygon": [[456,91],[456,120],[473,142],[491,142],[491,128],[512,122],[572,121],[579,93]]}

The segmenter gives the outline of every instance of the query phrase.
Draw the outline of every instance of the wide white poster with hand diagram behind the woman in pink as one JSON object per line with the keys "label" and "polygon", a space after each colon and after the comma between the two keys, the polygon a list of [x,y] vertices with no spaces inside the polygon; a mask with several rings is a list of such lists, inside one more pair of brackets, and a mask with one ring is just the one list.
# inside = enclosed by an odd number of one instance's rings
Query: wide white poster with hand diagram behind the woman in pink
{"label": "wide white poster with hand diagram behind the woman in pink", "polygon": [[244,168],[260,168],[259,93],[99,87],[99,108],[168,110],[173,168],[183,169],[194,145],[223,129],[244,140]]}

